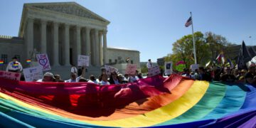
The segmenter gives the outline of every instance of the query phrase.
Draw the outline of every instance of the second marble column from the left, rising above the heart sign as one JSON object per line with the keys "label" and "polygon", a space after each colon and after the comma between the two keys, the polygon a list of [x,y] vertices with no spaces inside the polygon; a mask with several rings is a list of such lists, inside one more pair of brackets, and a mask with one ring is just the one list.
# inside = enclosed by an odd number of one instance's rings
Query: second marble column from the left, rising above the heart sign
{"label": "second marble column from the left, rising above the heart sign", "polygon": [[47,21],[41,20],[41,53],[46,53],[46,25]]}

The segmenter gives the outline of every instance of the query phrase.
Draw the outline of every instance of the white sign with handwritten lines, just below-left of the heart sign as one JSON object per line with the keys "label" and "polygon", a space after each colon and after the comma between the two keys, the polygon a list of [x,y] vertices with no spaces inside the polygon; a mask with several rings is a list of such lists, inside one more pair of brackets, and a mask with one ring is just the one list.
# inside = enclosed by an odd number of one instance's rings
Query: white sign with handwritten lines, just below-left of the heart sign
{"label": "white sign with handwritten lines, just below-left of the heart sign", "polygon": [[36,81],[43,78],[43,70],[41,66],[23,69],[26,81]]}

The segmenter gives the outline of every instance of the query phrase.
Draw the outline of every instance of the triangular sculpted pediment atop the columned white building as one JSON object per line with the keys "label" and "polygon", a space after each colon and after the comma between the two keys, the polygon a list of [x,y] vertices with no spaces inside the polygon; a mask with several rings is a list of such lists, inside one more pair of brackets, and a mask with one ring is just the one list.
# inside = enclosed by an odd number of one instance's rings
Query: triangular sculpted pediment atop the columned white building
{"label": "triangular sculpted pediment atop the columned white building", "polygon": [[105,18],[93,13],[89,9],[77,4],[75,2],[58,2],[58,3],[36,3],[36,4],[27,4],[27,6],[33,6],[38,9],[44,9],[48,11],[57,11],[64,14],[70,14],[73,16],[80,16],[85,18],[90,18],[97,21],[102,21],[110,23]]}

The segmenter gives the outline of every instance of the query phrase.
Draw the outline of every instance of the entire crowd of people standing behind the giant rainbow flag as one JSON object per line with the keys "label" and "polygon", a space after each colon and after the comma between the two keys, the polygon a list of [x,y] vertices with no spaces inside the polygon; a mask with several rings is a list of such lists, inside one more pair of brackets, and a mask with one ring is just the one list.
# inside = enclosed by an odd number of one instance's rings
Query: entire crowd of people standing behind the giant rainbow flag
{"label": "entire crowd of people standing behind the giant rainbow flag", "polygon": [[[147,68],[152,67],[150,59],[146,66]],[[37,82],[92,82],[99,85],[118,85],[142,79],[142,73],[139,73],[138,70],[136,70],[134,75],[122,75],[116,72],[108,74],[105,68],[101,68],[101,75],[98,78],[94,75],[90,75],[89,79],[86,79],[85,70],[86,69],[83,67],[77,69],[75,65],[73,65],[70,70],[69,80],[62,80],[60,75],[53,75],[53,73],[48,72],[43,75],[42,79],[37,80]],[[21,73],[22,65],[17,61],[16,57],[9,63],[6,71]],[[185,68],[183,69],[183,73],[178,73],[178,71],[174,70],[173,73],[181,74],[183,77],[192,78],[194,80],[245,82],[247,84],[256,85],[256,65],[254,64],[250,65],[247,70],[238,70],[238,68],[230,68],[230,66],[208,66],[206,68],[199,67],[196,70]],[[23,78],[21,79],[24,80]]]}

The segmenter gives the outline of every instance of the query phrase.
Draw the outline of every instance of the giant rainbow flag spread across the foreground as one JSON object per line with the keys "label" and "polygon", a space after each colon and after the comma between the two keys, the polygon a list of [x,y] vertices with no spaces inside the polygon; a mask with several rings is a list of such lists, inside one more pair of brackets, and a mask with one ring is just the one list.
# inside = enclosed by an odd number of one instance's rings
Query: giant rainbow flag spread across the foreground
{"label": "giant rainbow flag spread across the foreground", "polygon": [[256,87],[156,75],[126,85],[0,78],[3,127],[255,127]]}

